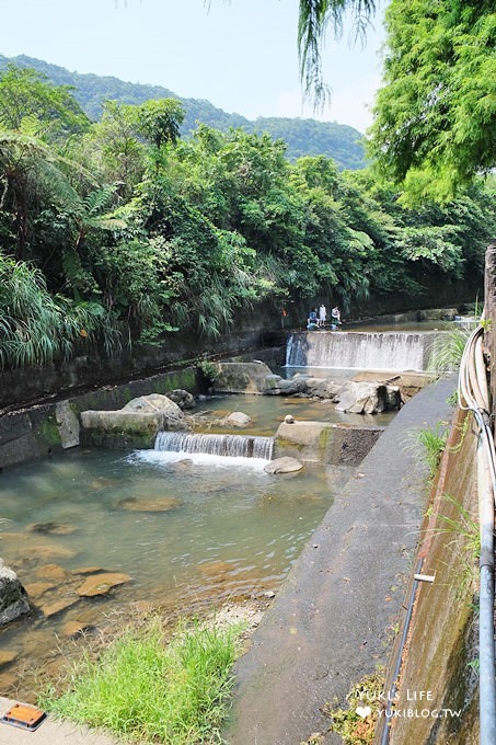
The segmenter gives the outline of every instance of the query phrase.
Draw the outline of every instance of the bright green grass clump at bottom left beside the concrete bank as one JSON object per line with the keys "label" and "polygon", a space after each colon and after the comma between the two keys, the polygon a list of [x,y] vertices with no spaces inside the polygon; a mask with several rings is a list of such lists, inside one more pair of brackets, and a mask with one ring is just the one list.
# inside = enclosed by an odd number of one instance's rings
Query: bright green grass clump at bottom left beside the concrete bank
{"label": "bright green grass clump at bottom left beside the concrete bank", "polygon": [[117,638],[97,661],[74,663],[68,690],[41,703],[59,717],[140,742],[221,743],[240,626],[181,626],[169,643],[158,620]]}

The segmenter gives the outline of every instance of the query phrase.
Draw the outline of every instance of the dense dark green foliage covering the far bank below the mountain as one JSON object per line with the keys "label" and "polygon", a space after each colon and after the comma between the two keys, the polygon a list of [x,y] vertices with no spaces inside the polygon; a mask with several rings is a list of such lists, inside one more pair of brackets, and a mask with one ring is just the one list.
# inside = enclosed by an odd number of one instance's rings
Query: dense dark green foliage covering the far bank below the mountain
{"label": "dense dark green foliage covering the far bank below the mountain", "polygon": [[267,134],[199,125],[183,140],[175,99],[107,102],[91,124],[34,71],[10,68],[0,87],[5,102],[57,104],[33,104],[14,129],[2,113],[3,366],[163,344],[176,329],[215,337],[261,302],[276,317],[316,298],[348,312],[370,294],[420,301],[430,279],[482,277],[495,229],[482,184],[407,209],[370,171],[291,163]]}

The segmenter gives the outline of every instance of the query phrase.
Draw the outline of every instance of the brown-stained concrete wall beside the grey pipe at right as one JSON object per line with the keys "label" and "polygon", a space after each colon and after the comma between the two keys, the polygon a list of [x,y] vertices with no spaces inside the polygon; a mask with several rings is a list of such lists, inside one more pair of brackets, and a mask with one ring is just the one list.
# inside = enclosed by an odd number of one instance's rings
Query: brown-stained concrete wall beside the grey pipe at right
{"label": "brown-stained concrete wall beside the grey pipe at right", "polygon": [[[434,581],[418,583],[395,696],[395,710],[419,715],[393,714],[390,745],[480,742],[477,438],[473,415],[458,411],[414,562],[422,560],[422,574]],[[405,606],[412,584],[411,577]],[[391,655],[387,689],[393,685],[399,646]]]}

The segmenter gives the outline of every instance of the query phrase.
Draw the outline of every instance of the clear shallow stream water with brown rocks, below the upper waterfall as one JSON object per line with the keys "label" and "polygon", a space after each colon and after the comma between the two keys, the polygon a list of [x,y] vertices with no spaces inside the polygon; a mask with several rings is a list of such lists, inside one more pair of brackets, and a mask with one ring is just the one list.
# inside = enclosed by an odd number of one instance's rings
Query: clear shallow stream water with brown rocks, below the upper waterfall
{"label": "clear shallow stream water with brown rocks, below the upper waterfall", "polygon": [[[279,397],[223,397],[197,410],[210,417],[201,437],[216,438],[215,422],[241,410],[252,419],[243,435],[264,446],[288,412],[350,421],[330,403]],[[351,419],[384,424],[391,414]],[[222,437],[228,432],[218,428]],[[240,438],[239,431],[230,434]],[[264,458],[235,455],[239,449],[228,457],[184,454],[184,445],[74,448],[0,475],[0,555],[35,607],[2,631],[2,653],[14,657],[0,667],[2,694],[32,700],[39,669],[55,674],[74,630],[102,629],[116,611],[127,618],[136,604],[171,615],[200,612],[276,589],[350,473],[312,466],[274,477],[264,471]],[[249,455],[257,455],[254,447]],[[95,570],[129,581],[108,595],[80,597]]]}

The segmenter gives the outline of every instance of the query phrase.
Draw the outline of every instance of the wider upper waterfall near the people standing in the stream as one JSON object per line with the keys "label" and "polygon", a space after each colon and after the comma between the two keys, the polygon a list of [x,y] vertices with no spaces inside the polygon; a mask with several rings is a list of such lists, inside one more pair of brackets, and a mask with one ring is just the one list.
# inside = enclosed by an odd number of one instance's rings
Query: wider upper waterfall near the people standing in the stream
{"label": "wider upper waterfall near the people standing in the stream", "polygon": [[288,367],[330,367],[359,370],[427,368],[430,348],[443,332],[313,331],[290,334]]}

